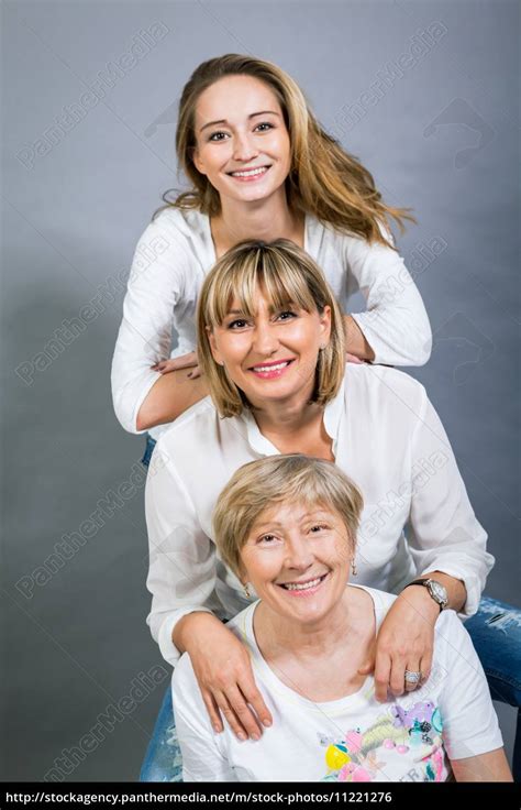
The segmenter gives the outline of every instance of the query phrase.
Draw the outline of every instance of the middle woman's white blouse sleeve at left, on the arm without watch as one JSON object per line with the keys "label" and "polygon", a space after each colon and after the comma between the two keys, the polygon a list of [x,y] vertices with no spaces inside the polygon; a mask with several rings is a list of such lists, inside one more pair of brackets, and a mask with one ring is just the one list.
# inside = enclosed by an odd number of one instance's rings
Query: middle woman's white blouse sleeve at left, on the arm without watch
{"label": "middle woman's white blouse sleeve at left, on the arm without watch", "polygon": [[219,610],[215,602],[215,546],[202,530],[190,495],[159,439],[145,486],[148,576],[152,608],[146,619],[152,637],[168,664],[179,650],[171,639],[176,623],[188,613]]}

